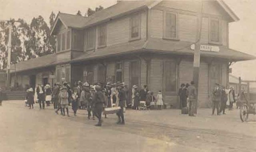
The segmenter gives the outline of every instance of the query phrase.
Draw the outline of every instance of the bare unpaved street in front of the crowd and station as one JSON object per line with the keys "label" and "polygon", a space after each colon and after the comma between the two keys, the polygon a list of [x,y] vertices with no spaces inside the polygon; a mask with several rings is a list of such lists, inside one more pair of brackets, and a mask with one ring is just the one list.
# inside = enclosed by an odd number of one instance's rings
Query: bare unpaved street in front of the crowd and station
{"label": "bare unpaved street in front of the crowd and station", "polygon": [[34,109],[27,109],[23,101],[6,101],[0,107],[0,149],[62,152],[256,151],[256,135],[252,131],[256,129],[255,116],[249,116],[250,122],[241,123],[237,110],[219,118],[202,116],[205,111],[210,113],[210,109],[201,111],[198,117],[189,118],[179,115],[175,109],[127,110],[125,125],[116,125],[116,116],[109,115],[102,127],[95,127],[96,121],[87,120],[83,110],[78,111],[77,117],[70,113],[68,118],[56,115],[52,108],[39,110],[36,105]]}

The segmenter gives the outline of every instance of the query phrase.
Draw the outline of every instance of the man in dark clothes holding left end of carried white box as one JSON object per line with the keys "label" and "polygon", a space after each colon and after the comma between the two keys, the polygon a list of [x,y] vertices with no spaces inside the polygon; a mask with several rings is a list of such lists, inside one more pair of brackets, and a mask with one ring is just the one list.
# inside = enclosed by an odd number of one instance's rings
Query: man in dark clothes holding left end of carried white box
{"label": "man in dark clothes holding left end of carried white box", "polygon": [[105,103],[105,98],[104,94],[101,92],[100,85],[96,85],[95,90],[96,92],[93,94],[92,98],[93,112],[95,113],[95,116],[98,118],[98,123],[95,126],[101,126],[101,114],[104,107],[103,104]]}

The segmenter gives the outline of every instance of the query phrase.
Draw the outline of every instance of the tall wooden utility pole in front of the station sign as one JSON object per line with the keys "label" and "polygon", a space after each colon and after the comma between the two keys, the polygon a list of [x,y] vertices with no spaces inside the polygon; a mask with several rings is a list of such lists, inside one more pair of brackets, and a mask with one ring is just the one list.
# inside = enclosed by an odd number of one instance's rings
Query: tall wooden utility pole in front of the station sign
{"label": "tall wooden utility pole in front of the station sign", "polygon": [[[197,24],[197,38],[195,44],[194,51],[194,71],[193,71],[193,81],[195,82],[195,86],[197,88],[197,96],[196,96],[196,107],[198,106],[198,90],[199,90],[199,72],[200,72],[200,47],[201,47],[201,30],[202,30],[202,13],[203,13],[203,2],[201,0],[201,10],[198,12],[198,24]],[[197,108],[195,113],[197,114]]]}

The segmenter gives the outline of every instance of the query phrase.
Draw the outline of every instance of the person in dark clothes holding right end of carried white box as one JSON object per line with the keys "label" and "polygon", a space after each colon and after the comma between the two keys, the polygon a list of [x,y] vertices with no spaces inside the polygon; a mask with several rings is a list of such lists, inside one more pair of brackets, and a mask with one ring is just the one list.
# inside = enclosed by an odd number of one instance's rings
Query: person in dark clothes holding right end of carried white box
{"label": "person in dark clothes holding right end of carried white box", "polygon": [[[125,91],[123,90],[123,83],[119,83],[118,84],[118,100],[119,100],[119,104],[118,106],[121,107],[121,109],[116,113],[118,116],[118,121],[117,124],[125,124],[124,123],[124,115],[123,115],[123,110],[125,107],[125,100],[126,100],[126,96],[125,96]],[[122,119],[122,121],[121,121]]]}

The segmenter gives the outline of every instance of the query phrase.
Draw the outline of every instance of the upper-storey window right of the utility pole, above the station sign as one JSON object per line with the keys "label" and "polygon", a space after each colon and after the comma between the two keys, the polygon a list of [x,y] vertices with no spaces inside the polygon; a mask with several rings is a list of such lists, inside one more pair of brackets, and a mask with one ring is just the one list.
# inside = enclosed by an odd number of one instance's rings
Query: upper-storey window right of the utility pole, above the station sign
{"label": "upper-storey window right of the utility pole, above the station sign", "polygon": [[210,42],[220,43],[220,20],[211,19],[210,20]]}

